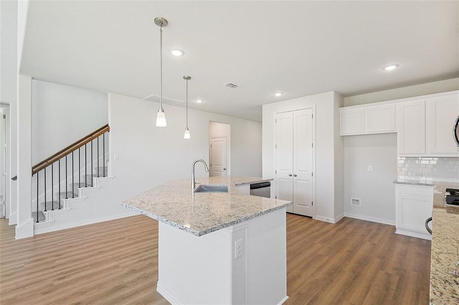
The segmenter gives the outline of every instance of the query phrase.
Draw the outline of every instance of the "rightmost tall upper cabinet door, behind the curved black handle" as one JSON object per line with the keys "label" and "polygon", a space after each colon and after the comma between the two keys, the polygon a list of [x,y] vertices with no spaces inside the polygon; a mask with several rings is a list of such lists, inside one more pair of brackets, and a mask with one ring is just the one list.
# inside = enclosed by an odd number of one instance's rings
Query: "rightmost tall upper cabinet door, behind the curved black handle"
{"label": "rightmost tall upper cabinet door, behind the curved black handle", "polygon": [[429,99],[427,109],[427,136],[431,154],[457,155],[457,145],[453,137],[454,121],[459,115],[459,94]]}

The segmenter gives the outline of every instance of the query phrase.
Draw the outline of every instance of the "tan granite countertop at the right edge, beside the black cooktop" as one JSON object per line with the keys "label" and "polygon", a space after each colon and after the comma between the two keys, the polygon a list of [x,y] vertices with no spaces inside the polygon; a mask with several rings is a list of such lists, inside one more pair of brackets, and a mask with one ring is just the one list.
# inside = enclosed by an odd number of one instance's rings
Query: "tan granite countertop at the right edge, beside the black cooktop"
{"label": "tan granite countertop at the right edge, beside the black cooktop", "polygon": [[452,274],[459,261],[459,215],[446,212],[446,188],[459,189],[459,183],[434,182],[430,254],[430,303],[434,305],[459,303],[459,277]]}

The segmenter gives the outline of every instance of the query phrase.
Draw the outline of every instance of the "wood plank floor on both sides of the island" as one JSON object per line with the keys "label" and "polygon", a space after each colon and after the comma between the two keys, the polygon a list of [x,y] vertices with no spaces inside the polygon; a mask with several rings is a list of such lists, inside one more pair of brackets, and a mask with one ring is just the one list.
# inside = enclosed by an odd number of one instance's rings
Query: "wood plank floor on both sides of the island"
{"label": "wood plank floor on both sides of the island", "polygon": [[[134,216],[14,239],[0,220],[0,303],[168,304],[157,221]],[[430,241],[344,218],[287,214],[285,304],[428,304]]]}

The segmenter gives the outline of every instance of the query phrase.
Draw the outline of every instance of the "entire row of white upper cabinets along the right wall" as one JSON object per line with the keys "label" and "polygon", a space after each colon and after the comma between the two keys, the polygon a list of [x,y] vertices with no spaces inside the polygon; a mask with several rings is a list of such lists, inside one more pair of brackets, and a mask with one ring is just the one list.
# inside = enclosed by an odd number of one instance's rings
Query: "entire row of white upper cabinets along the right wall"
{"label": "entire row of white upper cabinets along the right wall", "polygon": [[453,126],[459,92],[343,107],[340,135],[397,132],[398,156],[459,157]]}

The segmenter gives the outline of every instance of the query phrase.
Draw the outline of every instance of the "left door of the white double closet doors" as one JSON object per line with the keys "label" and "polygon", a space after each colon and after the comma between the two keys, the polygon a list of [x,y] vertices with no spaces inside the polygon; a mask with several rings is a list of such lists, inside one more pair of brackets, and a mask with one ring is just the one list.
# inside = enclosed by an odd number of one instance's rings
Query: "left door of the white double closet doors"
{"label": "left door of the white double closet doors", "polygon": [[[276,198],[293,201],[293,112],[276,114]],[[293,212],[292,206],[287,212]]]}

